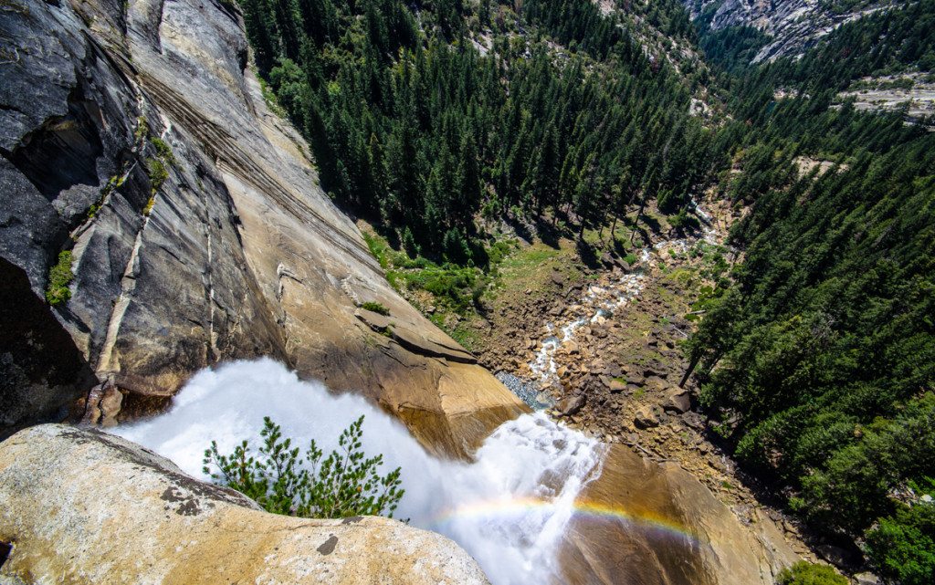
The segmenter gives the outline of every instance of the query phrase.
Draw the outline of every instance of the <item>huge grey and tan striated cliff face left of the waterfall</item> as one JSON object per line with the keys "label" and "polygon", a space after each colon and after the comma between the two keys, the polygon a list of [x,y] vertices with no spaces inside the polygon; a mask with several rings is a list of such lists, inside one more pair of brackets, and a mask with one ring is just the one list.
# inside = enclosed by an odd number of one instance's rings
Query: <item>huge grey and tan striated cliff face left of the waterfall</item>
{"label": "huge grey and tan striated cliff face left of the waterfall", "polygon": [[[23,309],[54,317],[77,349],[69,367],[96,380],[49,382],[32,402],[5,383],[0,436],[95,384],[73,418],[116,423],[165,407],[197,369],[261,355],[366,393],[450,456],[525,411],[390,287],[308,146],[266,108],[229,4],[3,10],[0,257],[26,277],[10,293],[41,298],[72,250],[71,300]],[[390,309],[392,335],[355,317],[367,301]],[[4,350],[5,380],[55,362]]]}

